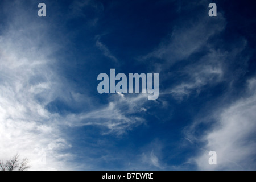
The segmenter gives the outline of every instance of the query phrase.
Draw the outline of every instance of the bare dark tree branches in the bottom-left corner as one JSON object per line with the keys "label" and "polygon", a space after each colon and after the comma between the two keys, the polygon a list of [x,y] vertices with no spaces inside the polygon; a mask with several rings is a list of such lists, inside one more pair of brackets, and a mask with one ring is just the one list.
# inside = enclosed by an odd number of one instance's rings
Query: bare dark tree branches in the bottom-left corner
{"label": "bare dark tree branches in the bottom-left corner", "polygon": [[6,162],[0,160],[0,171],[25,171],[28,168],[30,168],[28,159],[24,158],[20,161],[18,154]]}

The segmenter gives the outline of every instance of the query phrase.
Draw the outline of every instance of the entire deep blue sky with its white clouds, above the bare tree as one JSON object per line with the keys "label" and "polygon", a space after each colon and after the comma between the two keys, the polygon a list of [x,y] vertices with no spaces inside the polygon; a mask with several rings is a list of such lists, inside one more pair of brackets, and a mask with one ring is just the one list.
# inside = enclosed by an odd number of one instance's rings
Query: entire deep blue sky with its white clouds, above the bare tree
{"label": "entire deep blue sky with its white clouds, above the bare tree", "polygon": [[[1,1],[0,159],[18,152],[34,170],[255,170],[254,3],[214,1],[209,17],[211,2]],[[97,76],[112,68],[159,73],[159,98],[99,94]]]}

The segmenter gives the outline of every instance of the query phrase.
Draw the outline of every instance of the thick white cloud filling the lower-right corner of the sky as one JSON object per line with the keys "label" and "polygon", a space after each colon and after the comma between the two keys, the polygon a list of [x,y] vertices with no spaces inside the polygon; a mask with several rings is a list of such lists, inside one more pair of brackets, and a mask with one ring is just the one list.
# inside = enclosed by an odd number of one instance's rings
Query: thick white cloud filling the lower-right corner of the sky
{"label": "thick white cloud filling the lower-right corner of the sky", "polygon": [[[249,90],[255,87],[255,78],[249,80]],[[251,170],[255,169],[256,93],[234,102],[214,113],[217,123],[199,139],[205,142],[202,152],[191,163],[199,169]],[[216,116],[218,115],[218,116]],[[192,131],[199,123],[194,123]],[[195,132],[195,131],[193,131]],[[195,139],[189,136],[191,139]],[[208,152],[217,152],[217,165],[209,165]]]}

